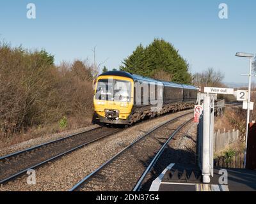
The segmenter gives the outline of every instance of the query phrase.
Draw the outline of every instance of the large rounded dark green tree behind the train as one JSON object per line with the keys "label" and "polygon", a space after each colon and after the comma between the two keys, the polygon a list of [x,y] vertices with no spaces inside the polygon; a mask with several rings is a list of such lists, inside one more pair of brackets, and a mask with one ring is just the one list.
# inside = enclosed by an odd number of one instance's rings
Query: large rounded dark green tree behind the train
{"label": "large rounded dark green tree behind the train", "polygon": [[190,83],[191,75],[188,72],[188,63],[172,44],[164,40],[155,39],[145,48],[139,45],[132,55],[124,59],[122,64],[120,66],[122,71],[157,79],[161,79],[156,77],[161,72],[170,75],[172,82]]}

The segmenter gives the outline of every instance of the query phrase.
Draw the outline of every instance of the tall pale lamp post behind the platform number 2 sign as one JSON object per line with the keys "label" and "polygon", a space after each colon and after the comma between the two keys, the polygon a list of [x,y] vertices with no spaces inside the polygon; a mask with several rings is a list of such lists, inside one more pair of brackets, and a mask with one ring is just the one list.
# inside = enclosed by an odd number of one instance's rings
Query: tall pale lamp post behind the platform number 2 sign
{"label": "tall pale lamp post behind the platform number 2 sign", "polygon": [[250,103],[251,103],[251,85],[252,85],[252,60],[254,58],[254,54],[248,54],[244,52],[237,52],[236,57],[247,57],[250,58],[250,68],[249,75],[243,75],[249,77],[249,85],[248,85],[248,102],[247,102],[247,120],[246,120],[246,139],[245,139],[245,151],[244,151],[244,168],[246,168],[246,153],[248,146],[248,132],[249,132],[249,122],[250,122]]}

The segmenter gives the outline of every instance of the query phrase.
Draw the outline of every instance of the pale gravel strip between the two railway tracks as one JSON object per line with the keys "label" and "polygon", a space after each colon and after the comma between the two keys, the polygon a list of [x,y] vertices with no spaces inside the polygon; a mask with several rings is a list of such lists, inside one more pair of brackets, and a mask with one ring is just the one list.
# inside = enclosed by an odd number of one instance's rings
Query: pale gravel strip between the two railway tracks
{"label": "pale gravel strip between the two railway tracks", "polygon": [[[190,111],[190,110],[189,110]],[[99,142],[92,143],[36,169],[36,184],[28,185],[27,175],[1,185],[0,191],[68,191],[79,180],[155,126],[186,112],[164,115],[141,122]],[[35,145],[35,144],[34,144]]]}

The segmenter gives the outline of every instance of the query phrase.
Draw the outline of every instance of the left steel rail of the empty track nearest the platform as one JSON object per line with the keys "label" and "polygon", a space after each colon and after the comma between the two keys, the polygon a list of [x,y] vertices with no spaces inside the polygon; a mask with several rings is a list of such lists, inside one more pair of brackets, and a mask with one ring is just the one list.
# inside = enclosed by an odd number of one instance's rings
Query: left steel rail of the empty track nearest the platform
{"label": "left steel rail of the empty track nearest the platform", "polygon": [[146,136],[150,135],[150,133],[153,133],[154,131],[156,131],[157,129],[163,127],[164,125],[173,122],[177,119],[180,119],[181,117],[184,117],[186,115],[189,115],[193,112],[188,112],[185,113],[183,115],[180,115],[179,117],[175,117],[174,119],[170,119],[166,122],[163,122],[162,124],[156,126],[156,128],[148,131],[147,133],[145,133],[145,135],[140,136],[140,138],[138,138],[137,140],[135,140],[134,142],[132,142],[130,145],[128,145],[127,147],[125,147],[124,149],[120,150],[120,152],[118,152],[117,154],[115,154],[115,156],[111,157],[111,159],[109,159],[108,161],[106,161],[106,163],[102,164],[101,166],[99,166],[99,168],[97,168],[96,170],[94,170],[92,173],[90,173],[89,175],[87,175],[86,177],[84,177],[84,179],[82,179],[80,182],[78,182],[75,186],[73,186],[69,191],[76,191],[77,189],[79,189],[80,186],[82,186],[85,182],[88,182],[90,179],[92,179],[93,175],[96,175],[96,173],[98,173],[100,170],[102,170],[104,167],[108,166],[108,164],[110,164],[112,161],[114,161],[118,156],[120,156],[121,154],[123,154],[127,149],[130,149],[135,143],[138,143],[140,140],[142,140],[143,138],[145,138]]}

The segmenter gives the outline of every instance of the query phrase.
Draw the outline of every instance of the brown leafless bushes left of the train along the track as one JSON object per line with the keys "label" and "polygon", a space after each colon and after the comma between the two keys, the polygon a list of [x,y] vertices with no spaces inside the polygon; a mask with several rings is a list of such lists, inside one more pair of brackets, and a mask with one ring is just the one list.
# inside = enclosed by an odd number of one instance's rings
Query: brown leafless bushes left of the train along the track
{"label": "brown leafless bushes left of the train along the track", "polygon": [[1,146],[31,129],[54,126],[57,128],[48,131],[58,132],[88,122],[92,117],[92,73],[93,67],[86,62],[55,66],[54,56],[45,50],[28,51],[1,43]]}

